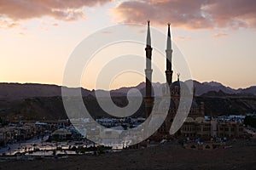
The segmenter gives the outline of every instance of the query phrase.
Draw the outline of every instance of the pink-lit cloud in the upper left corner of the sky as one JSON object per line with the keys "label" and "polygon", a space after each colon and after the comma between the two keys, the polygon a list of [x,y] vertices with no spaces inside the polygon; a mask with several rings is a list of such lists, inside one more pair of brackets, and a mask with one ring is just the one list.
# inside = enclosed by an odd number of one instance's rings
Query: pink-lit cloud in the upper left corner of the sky
{"label": "pink-lit cloud in the upper left corner of the sky", "polygon": [[55,20],[84,18],[84,7],[108,3],[111,0],[0,0],[0,19],[13,22],[49,16]]}

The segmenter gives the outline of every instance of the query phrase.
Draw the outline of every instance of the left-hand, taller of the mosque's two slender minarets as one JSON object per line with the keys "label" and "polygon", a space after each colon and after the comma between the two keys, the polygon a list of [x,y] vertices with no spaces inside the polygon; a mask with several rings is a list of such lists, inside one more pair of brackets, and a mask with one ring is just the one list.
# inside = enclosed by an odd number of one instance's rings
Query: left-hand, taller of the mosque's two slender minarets
{"label": "left-hand, taller of the mosque's two slender minarets", "polygon": [[145,48],[146,51],[146,96],[144,98],[145,102],[145,116],[146,118],[150,115],[153,108],[153,98],[152,98],[152,68],[151,68],[151,56],[152,56],[152,48],[151,48],[151,37],[150,37],[150,21],[148,20],[148,33],[147,33],[147,45]]}

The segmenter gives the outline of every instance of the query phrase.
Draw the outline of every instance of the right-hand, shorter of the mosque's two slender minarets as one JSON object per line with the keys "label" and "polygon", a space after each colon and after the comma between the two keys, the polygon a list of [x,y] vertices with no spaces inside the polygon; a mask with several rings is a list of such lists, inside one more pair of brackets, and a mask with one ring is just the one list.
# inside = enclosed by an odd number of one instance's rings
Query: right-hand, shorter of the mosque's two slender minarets
{"label": "right-hand, shorter of the mosque's two slender minarets", "polygon": [[172,40],[170,24],[168,23],[168,34],[167,34],[167,46],[166,46],[166,83],[167,87],[170,88],[172,83]]}

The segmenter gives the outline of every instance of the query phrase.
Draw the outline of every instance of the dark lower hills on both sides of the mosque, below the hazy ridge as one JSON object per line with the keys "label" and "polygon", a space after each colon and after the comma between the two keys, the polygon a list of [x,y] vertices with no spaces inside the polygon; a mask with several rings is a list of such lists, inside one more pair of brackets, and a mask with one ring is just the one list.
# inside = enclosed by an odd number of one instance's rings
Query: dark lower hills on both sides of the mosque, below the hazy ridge
{"label": "dark lower hills on both sides of the mosque, below the hazy ridge", "polygon": [[[108,113],[102,111],[97,99],[93,95],[83,98],[86,109],[93,117],[110,117]],[[113,103],[119,107],[128,104],[125,96],[112,97]],[[207,94],[195,97],[195,101],[205,105],[205,114],[210,116],[218,115],[245,115],[256,112],[256,97],[243,96],[238,94],[224,94],[224,92],[211,91]],[[5,105],[3,105],[3,103]],[[143,116],[143,103],[133,116]],[[66,111],[60,96],[37,97],[9,101],[0,101],[0,117],[8,116],[15,120],[58,120],[67,119]]]}

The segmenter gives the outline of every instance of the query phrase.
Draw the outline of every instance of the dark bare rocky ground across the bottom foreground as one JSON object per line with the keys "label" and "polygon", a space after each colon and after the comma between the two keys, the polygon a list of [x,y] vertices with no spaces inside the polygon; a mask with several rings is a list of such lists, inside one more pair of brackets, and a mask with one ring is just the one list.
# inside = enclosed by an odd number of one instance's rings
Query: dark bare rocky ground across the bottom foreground
{"label": "dark bare rocky ground across the bottom foreground", "polygon": [[99,156],[2,161],[0,169],[256,169],[256,140],[239,140],[231,145],[227,149],[186,150],[180,144],[161,144]]}

